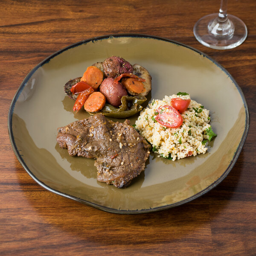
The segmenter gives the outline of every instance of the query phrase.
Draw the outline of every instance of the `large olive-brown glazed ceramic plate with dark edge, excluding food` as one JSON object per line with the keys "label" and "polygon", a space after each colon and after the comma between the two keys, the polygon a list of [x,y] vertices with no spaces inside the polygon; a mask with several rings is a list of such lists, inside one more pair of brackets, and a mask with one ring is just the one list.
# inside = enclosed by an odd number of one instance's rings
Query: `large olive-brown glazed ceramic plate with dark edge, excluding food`
{"label": "large olive-brown glazed ceramic plate with dark edge, excluding food", "polygon": [[[65,96],[64,84],[111,55],[149,71],[150,99],[186,92],[210,111],[218,136],[206,154],[172,161],[151,153],[145,172],[126,189],[118,189],[97,181],[94,160],[70,157],[59,148],[57,128],[89,116],[73,113],[74,102]],[[131,124],[137,117],[130,118]],[[208,192],[236,163],[248,128],[244,95],[227,70],[196,49],[148,35],[102,36],[54,53],[26,76],[9,110],[12,147],[35,181],[59,195],[117,213],[175,207]]]}

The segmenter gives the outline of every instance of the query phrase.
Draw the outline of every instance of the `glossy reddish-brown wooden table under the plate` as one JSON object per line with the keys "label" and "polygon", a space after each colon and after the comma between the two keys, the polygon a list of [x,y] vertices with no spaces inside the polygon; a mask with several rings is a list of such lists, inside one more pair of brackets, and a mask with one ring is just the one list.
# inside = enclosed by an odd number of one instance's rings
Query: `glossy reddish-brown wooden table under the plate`
{"label": "glossy reddish-brown wooden table under the plate", "polygon": [[[256,255],[256,2],[230,0],[247,40],[231,50],[202,46],[195,22],[219,0],[0,2],[0,255]],[[183,206],[141,215],[103,212],[38,185],[16,159],[7,116],[26,74],[53,52],[99,35],[142,33],[205,52],[241,87],[250,131],[227,178]],[[228,95],[227,95],[228,97]]]}

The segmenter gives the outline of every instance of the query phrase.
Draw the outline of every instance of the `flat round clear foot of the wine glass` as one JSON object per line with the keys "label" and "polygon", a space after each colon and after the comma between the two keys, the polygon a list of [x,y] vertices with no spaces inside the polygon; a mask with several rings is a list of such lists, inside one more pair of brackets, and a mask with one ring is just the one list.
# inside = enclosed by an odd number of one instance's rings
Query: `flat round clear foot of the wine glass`
{"label": "flat round clear foot of the wine glass", "polygon": [[218,13],[209,14],[195,23],[193,32],[195,38],[201,44],[212,49],[224,50],[235,48],[244,42],[247,37],[247,27],[242,20],[234,15],[227,15],[235,27],[234,34],[231,38],[229,36],[216,36],[210,33],[208,24],[216,17],[218,17]]}

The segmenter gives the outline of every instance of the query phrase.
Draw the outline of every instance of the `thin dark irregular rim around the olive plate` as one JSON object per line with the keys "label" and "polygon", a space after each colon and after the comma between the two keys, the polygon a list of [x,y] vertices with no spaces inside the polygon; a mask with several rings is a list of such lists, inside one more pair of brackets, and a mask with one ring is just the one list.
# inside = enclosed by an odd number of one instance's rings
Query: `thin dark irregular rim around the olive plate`
{"label": "thin dark irregular rim around the olive plate", "polygon": [[[210,61],[212,61],[216,66],[218,66],[219,68],[221,68],[222,71],[224,71],[227,76],[231,79],[231,81],[235,84],[236,89],[238,90],[242,102],[244,104],[244,109],[245,109],[245,127],[244,127],[244,133],[241,137],[241,141],[239,143],[239,146],[236,149],[236,152],[233,156],[233,159],[231,160],[229,166],[227,167],[227,169],[224,171],[224,173],[221,175],[221,177],[219,177],[217,180],[215,180],[213,183],[211,183],[209,186],[207,186],[205,189],[203,189],[202,191],[196,193],[195,195],[186,198],[182,201],[179,201],[177,203],[174,204],[167,204],[164,206],[160,206],[160,207],[154,207],[154,208],[148,208],[148,209],[140,209],[140,210],[122,210],[122,209],[113,209],[111,207],[106,207],[106,206],[102,206],[100,204],[96,204],[96,203],[92,203],[90,201],[81,199],[81,198],[77,198],[75,196],[71,196],[68,195],[64,192],[60,192],[58,190],[52,189],[51,187],[47,186],[44,182],[42,182],[41,180],[39,180],[37,177],[35,177],[35,175],[29,170],[28,166],[26,166],[25,161],[23,160],[23,158],[21,157],[21,155],[19,154],[19,151],[17,149],[17,146],[15,144],[15,140],[14,140],[14,135],[13,135],[13,131],[12,131],[12,115],[13,115],[13,111],[15,108],[15,103],[17,102],[18,96],[20,95],[21,91],[23,90],[23,87],[25,86],[26,82],[29,81],[30,77],[36,72],[36,70],[38,70],[39,67],[43,66],[44,64],[46,64],[47,62],[49,62],[52,58],[54,58],[55,56],[61,54],[62,52],[73,48],[73,47],[77,47],[80,46],[81,44],[87,44],[88,42],[93,42],[93,41],[99,41],[99,40],[103,40],[103,39],[108,39],[108,38],[120,38],[120,37],[128,37],[128,38],[151,38],[151,39],[157,39],[160,41],[166,41],[172,44],[177,44],[180,45],[182,47],[186,47],[188,49],[191,49],[192,51],[195,51],[197,53],[199,53],[200,55],[203,55],[204,57],[208,58]],[[97,36],[97,37],[93,37],[93,38],[88,38],[86,40],[82,40],[79,42],[76,42],[74,44],[70,44],[67,47],[64,47],[54,53],[52,53],[51,55],[49,55],[47,58],[45,58],[43,61],[41,61],[39,64],[37,64],[27,75],[26,77],[23,79],[22,83],[20,84],[20,86],[18,87],[11,105],[9,107],[9,113],[8,113],[8,132],[9,132],[9,139],[12,145],[12,149],[15,153],[15,156],[17,157],[17,160],[21,163],[21,165],[23,166],[23,168],[26,170],[26,172],[30,175],[30,177],[32,177],[33,180],[35,180],[39,185],[41,185],[42,187],[44,187],[45,189],[49,190],[50,192],[53,192],[55,194],[61,195],[65,198],[70,198],[73,199],[75,201],[81,202],[83,204],[87,204],[91,207],[97,208],[97,209],[101,209],[103,211],[106,212],[111,212],[111,213],[120,213],[120,214],[141,214],[141,213],[147,213],[147,212],[156,212],[156,211],[160,211],[160,210],[164,210],[164,209],[169,209],[169,208],[173,208],[173,207],[177,207],[180,206],[182,204],[186,204],[192,200],[195,200],[196,198],[201,197],[202,195],[206,194],[207,192],[209,192],[210,190],[212,190],[213,188],[215,188],[216,186],[218,186],[219,183],[221,183],[226,177],[227,175],[230,173],[231,169],[233,169],[233,166],[236,164],[236,161],[241,153],[241,150],[244,146],[244,143],[246,141],[248,132],[249,132],[249,128],[250,128],[250,114],[249,114],[249,110],[248,110],[248,106],[247,106],[247,102],[246,99],[244,97],[244,93],[241,90],[241,87],[238,85],[238,83],[236,82],[236,80],[233,78],[233,76],[231,76],[231,74],[221,65],[219,64],[217,61],[215,61],[212,57],[210,57],[209,55],[205,54],[204,52],[195,49],[194,47],[191,47],[189,45],[180,43],[178,41],[174,41],[168,38],[163,38],[163,37],[159,37],[159,36],[154,36],[154,35],[146,35],[146,34],[133,34],[133,33],[120,33],[120,34],[109,34],[109,35],[102,35],[102,36]]]}

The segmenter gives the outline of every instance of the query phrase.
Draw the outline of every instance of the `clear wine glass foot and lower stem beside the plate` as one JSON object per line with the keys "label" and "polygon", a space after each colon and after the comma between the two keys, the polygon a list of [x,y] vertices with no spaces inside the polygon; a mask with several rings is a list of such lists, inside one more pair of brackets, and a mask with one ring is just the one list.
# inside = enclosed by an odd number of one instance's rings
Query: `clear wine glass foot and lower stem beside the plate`
{"label": "clear wine glass foot and lower stem beside the plate", "polygon": [[227,0],[221,0],[219,13],[202,17],[194,26],[195,38],[213,49],[232,49],[247,37],[247,27],[234,15],[227,15]]}

